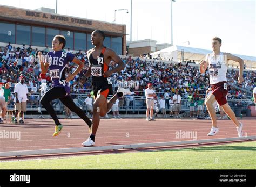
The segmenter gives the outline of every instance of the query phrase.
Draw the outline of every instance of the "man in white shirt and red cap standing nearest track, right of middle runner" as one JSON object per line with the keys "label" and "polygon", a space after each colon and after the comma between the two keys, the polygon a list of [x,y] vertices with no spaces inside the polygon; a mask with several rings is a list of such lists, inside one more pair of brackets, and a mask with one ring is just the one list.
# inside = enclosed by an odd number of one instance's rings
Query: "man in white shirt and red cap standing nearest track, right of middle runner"
{"label": "man in white shirt and red cap standing nearest track, right of middle runner", "polygon": [[[146,120],[151,121],[153,119],[153,110],[154,110],[154,97],[156,97],[156,92],[152,89],[152,84],[147,84],[147,89],[145,90],[146,95],[146,104],[147,104],[147,112],[146,112]],[[150,114],[150,117],[149,117]]]}

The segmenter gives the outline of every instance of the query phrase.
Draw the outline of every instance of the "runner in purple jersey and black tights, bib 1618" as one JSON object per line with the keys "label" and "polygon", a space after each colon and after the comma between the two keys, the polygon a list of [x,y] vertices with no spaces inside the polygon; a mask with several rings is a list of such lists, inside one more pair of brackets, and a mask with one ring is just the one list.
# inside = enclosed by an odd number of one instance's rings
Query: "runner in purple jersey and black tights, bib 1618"
{"label": "runner in purple jersey and black tights, bib 1618", "polygon": [[[91,128],[91,120],[86,116],[82,109],[80,109],[73,102],[70,96],[70,83],[69,81],[83,69],[84,64],[77,59],[72,53],[63,52],[62,49],[66,45],[66,39],[63,35],[56,35],[52,40],[53,52],[49,52],[46,55],[45,62],[43,62],[43,56],[41,52],[38,52],[39,62],[41,63],[42,73],[46,74],[49,69],[52,79],[52,88],[48,90],[41,98],[41,103],[45,107],[46,111],[50,114],[55,121],[55,132],[53,136],[60,134],[63,125],[60,124],[59,119],[51,106],[50,102],[55,99],[59,99],[66,107],[72,112],[75,112],[80,118],[82,118],[86,124]],[[74,62],[78,65],[77,69],[66,77],[66,67],[68,62]]]}

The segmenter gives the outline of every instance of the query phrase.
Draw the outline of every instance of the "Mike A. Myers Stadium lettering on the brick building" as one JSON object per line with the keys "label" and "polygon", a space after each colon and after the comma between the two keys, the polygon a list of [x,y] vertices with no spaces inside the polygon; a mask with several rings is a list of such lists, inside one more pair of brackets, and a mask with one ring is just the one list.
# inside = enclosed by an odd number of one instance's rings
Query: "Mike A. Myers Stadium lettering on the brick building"
{"label": "Mike A. Myers Stadium lettering on the brick building", "polygon": [[92,25],[92,21],[90,20],[69,18],[65,16],[48,15],[46,13],[33,12],[33,11],[26,11],[26,16],[38,17],[38,18],[44,18],[44,19],[53,19],[53,20],[59,20],[59,21],[67,21],[67,22],[70,21],[71,23]]}

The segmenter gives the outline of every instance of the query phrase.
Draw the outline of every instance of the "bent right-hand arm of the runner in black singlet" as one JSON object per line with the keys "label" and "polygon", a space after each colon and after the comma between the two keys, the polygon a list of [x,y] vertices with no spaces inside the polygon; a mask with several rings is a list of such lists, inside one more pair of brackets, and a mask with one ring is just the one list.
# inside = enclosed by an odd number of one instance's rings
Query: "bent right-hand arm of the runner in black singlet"
{"label": "bent right-hand arm of the runner in black singlet", "polygon": [[120,57],[116,54],[116,52],[114,52],[113,50],[107,49],[106,52],[107,52],[107,56],[109,56],[114,62],[116,62],[118,64],[118,66],[116,68],[113,68],[104,73],[104,75],[106,77],[110,77],[113,73],[123,70],[125,68],[125,64],[122,61],[122,59],[120,59]]}

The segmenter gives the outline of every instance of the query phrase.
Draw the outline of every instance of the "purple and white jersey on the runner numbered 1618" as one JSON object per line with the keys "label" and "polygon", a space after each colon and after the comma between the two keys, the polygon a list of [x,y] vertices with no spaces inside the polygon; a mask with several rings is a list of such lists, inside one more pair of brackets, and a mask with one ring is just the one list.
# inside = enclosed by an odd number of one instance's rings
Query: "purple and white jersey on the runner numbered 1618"
{"label": "purple and white jersey on the runner numbered 1618", "polygon": [[66,53],[63,51],[48,52],[46,61],[49,62],[49,72],[52,80],[52,87],[64,87],[66,92],[70,93],[70,84],[66,83],[66,67],[68,62],[74,59],[72,53]]}

